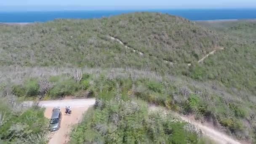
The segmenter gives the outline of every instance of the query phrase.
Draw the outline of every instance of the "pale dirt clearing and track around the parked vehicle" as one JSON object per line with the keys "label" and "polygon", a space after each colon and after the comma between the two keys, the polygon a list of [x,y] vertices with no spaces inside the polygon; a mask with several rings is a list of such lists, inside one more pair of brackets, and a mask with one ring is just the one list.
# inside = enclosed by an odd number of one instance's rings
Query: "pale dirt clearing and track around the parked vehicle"
{"label": "pale dirt clearing and track around the parked vehicle", "polygon": [[[31,102],[29,102],[31,103]],[[48,144],[66,144],[69,141],[69,133],[72,126],[79,123],[83,118],[83,113],[93,104],[95,99],[69,99],[61,101],[40,101],[39,106],[45,107],[45,117],[51,118],[53,107],[61,107],[62,120],[61,128],[58,131],[51,132]],[[72,114],[65,114],[65,107],[72,108]]]}

